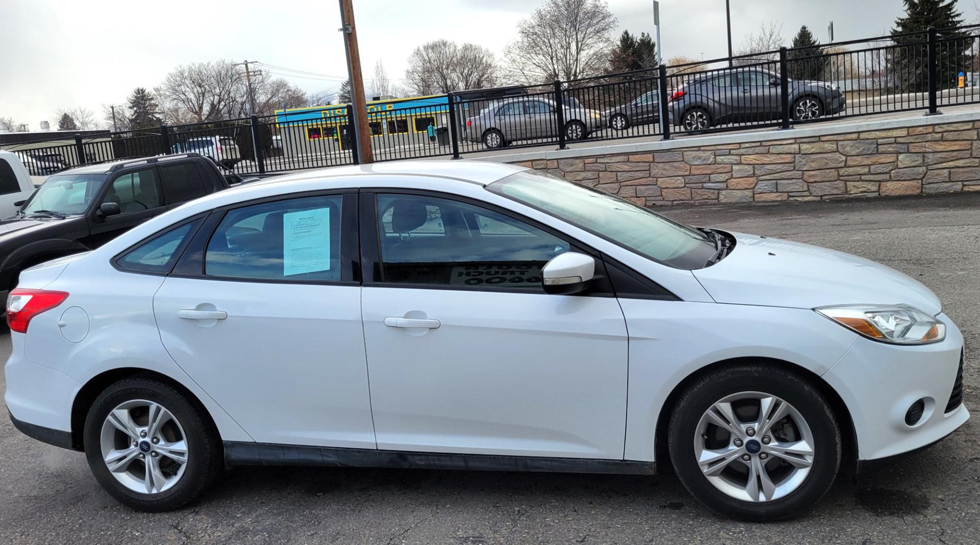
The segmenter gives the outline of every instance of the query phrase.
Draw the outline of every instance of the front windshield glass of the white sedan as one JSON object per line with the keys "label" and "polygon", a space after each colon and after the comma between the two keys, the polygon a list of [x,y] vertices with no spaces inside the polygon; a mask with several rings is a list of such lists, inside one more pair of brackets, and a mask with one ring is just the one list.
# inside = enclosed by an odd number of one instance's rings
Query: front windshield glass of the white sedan
{"label": "front windshield glass of the white sedan", "polygon": [[550,174],[515,173],[487,185],[487,189],[677,269],[701,269],[716,251],[714,242],[702,231]]}

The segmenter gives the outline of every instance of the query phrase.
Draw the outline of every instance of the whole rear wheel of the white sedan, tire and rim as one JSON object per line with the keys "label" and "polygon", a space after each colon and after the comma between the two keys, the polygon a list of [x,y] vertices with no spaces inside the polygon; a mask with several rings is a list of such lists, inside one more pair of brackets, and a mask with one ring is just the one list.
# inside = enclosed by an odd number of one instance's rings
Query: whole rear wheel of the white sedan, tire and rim
{"label": "whole rear wheel of the white sedan, tire and rim", "polygon": [[221,441],[204,409],[171,385],[126,378],[107,388],[85,420],[85,457],[124,505],[147,512],[197,498],[222,468]]}

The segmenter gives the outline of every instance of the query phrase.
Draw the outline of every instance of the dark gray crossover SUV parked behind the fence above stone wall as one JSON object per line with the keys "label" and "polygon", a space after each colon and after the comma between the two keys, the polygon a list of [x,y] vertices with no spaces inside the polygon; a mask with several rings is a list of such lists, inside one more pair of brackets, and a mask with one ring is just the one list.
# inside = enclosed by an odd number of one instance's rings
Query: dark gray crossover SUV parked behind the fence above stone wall
{"label": "dark gray crossover SUV parked behind the fence above stone wall", "polygon": [[[810,121],[846,108],[844,93],[824,81],[790,79],[790,116]],[[721,124],[764,123],[780,119],[782,97],[778,74],[760,69],[733,69],[698,74],[674,89],[670,113],[686,130]]]}

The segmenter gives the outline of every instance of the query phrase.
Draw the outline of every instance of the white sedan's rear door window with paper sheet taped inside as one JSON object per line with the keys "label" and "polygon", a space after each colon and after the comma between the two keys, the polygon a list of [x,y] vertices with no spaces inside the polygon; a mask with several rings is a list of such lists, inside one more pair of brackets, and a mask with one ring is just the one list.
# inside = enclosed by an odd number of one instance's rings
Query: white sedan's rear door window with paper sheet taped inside
{"label": "white sedan's rear door window with paper sheet taped inside", "polygon": [[208,276],[340,279],[342,195],[252,205],[225,214],[208,242]]}

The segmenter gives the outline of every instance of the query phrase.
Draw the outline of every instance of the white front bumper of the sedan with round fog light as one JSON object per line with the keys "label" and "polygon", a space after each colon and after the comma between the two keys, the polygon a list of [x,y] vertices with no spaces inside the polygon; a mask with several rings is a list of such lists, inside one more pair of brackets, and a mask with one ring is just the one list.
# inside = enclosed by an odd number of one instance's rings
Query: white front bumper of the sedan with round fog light
{"label": "white front bumper of the sedan with round fog light", "polygon": [[[927,447],[970,415],[961,403],[947,411],[963,353],[963,337],[949,317],[946,339],[902,346],[864,337],[823,378],[847,405],[858,440],[858,460],[888,458]],[[925,400],[921,419],[906,423],[908,408]]]}

